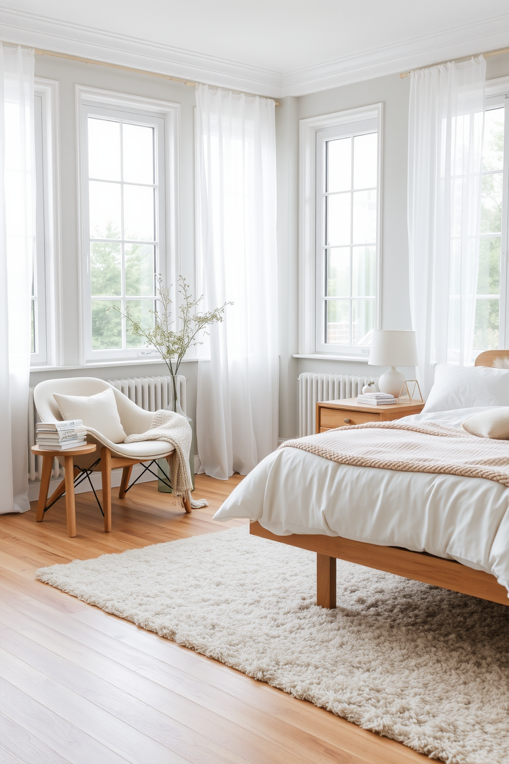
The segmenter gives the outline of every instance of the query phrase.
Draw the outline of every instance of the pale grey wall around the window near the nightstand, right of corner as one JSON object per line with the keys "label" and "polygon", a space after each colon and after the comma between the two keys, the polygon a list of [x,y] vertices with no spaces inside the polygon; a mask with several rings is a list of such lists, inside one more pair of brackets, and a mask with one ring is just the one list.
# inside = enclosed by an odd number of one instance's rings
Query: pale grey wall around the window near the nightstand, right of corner
{"label": "pale grey wall around the window near the nightstand, right of corner", "polygon": [[[487,60],[487,78],[509,74],[509,54]],[[297,379],[303,371],[378,375],[385,368],[362,361],[292,358],[298,353],[298,120],[383,102],[382,157],[382,329],[411,329],[408,288],[407,167],[410,78],[398,74],[324,90],[298,99],[282,99],[276,109],[278,140],[279,294],[280,294],[280,432],[298,434]],[[286,315],[285,315],[286,313]],[[413,372],[413,370],[408,370]]]}

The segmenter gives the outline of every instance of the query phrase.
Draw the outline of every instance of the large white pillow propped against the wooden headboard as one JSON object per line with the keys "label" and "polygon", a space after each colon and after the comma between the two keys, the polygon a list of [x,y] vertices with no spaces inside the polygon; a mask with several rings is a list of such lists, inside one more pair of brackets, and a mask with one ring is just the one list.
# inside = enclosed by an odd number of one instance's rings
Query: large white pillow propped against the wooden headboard
{"label": "large white pillow propped against the wooden headboard", "polygon": [[509,406],[509,370],[437,364],[422,413],[472,406]]}

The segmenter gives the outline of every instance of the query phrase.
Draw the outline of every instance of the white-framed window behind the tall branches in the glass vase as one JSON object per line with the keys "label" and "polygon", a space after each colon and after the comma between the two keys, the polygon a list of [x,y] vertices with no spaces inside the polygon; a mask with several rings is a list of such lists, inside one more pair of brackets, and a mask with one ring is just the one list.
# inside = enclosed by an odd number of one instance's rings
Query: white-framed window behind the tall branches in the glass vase
{"label": "white-framed window behind the tall branches in the glass vase", "polygon": [[156,277],[166,280],[170,249],[164,112],[104,100],[82,102],[85,361],[142,354],[124,314],[153,323]]}

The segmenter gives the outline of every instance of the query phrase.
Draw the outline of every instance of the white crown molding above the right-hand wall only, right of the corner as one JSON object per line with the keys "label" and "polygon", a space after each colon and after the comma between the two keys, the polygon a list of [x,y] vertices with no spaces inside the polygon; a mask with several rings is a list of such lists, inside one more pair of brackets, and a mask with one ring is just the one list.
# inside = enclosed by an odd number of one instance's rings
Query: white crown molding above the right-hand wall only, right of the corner
{"label": "white crown molding above the right-hand wall only, right of the corner", "polygon": [[437,61],[497,50],[508,44],[509,14],[505,14],[283,74],[281,96],[307,95],[363,79],[432,66]]}

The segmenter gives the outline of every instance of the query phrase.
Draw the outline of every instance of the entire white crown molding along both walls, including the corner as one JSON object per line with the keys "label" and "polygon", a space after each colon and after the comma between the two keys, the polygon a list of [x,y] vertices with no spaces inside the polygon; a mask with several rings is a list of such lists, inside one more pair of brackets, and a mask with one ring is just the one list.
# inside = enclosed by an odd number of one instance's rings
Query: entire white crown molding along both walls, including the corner
{"label": "entire white crown molding along both walls, including the corner", "polygon": [[280,98],[374,79],[509,44],[509,14],[284,73],[0,6],[0,38]]}

